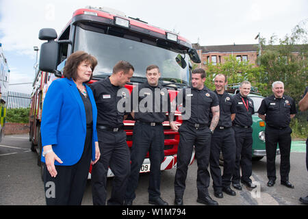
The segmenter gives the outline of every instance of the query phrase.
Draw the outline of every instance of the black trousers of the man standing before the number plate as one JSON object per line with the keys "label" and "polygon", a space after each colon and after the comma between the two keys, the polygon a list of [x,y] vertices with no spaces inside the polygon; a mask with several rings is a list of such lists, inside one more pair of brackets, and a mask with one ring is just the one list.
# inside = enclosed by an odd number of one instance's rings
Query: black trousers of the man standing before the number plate
{"label": "black trousers of the man standing before the number plate", "polygon": [[131,175],[125,194],[127,201],[133,201],[136,198],[135,190],[138,187],[140,168],[148,151],[151,162],[148,192],[149,199],[154,199],[160,196],[160,166],[164,160],[164,127],[135,123],[131,147]]}

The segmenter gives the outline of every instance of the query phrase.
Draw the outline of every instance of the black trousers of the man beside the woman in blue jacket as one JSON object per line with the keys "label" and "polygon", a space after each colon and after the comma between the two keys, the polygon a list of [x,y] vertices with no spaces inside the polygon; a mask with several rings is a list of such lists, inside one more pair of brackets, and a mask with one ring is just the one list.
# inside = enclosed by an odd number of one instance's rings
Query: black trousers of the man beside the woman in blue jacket
{"label": "black trousers of the man beside the woman in blue jacket", "polygon": [[107,198],[108,167],[114,173],[112,194],[107,205],[123,205],[130,172],[130,152],[126,143],[126,132],[107,131],[97,128],[101,158],[92,167],[93,205],[105,205]]}

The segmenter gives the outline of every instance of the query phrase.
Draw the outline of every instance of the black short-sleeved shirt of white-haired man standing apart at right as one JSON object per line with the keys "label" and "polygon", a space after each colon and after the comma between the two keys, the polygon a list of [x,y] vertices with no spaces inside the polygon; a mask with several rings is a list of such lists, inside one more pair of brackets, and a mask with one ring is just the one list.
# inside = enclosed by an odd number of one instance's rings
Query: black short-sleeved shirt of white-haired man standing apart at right
{"label": "black short-sleeved shirt of white-haired man standing apart at right", "polygon": [[282,98],[276,98],[274,95],[268,96],[262,100],[258,113],[266,114],[266,125],[285,128],[290,124],[290,114],[296,114],[295,102],[287,95],[283,95]]}

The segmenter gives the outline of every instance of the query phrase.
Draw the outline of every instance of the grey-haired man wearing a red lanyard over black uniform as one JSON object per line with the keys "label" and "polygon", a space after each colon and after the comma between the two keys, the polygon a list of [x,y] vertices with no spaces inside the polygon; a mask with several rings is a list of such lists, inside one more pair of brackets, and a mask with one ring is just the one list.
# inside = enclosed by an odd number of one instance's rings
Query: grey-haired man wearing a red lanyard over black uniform
{"label": "grey-haired man wearing a red lanyard over black uniform", "polygon": [[[237,190],[242,190],[240,181],[248,188],[256,188],[250,177],[252,174],[252,146],[253,146],[253,117],[255,114],[253,100],[248,97],[251,92],[251,83],[243,81],[240,83],[240,92],[233,96],[236,105],[236,115],[233,120],[235,131],[236,157],[235,169],[232,177],[232,185]],[[242,168],[242,177],[240,175]]]}

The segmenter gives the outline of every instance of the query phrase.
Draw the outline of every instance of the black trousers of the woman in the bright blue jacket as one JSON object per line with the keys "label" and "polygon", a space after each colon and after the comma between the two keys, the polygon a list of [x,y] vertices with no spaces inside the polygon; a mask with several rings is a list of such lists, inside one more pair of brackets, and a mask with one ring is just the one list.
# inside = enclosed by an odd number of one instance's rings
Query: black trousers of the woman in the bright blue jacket
{"label": "black trousers of the woman in the bright blue jacket", "polygon": [[[59,157],[61,159],[61,156]],[[55,170],[57,170],[56,177],[51,177],[47,166],[43,164],[47,205],[81,205],[84,190],[86,189],[91,157],[92,129],[87,129],[84,152],[77,164],[73,166],[55,166]]]}

